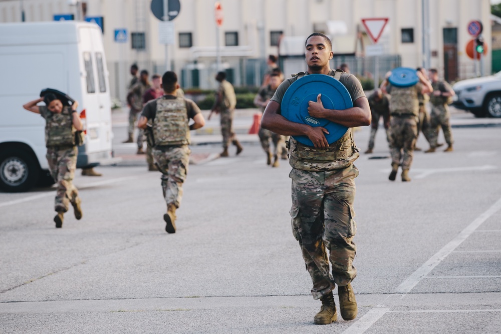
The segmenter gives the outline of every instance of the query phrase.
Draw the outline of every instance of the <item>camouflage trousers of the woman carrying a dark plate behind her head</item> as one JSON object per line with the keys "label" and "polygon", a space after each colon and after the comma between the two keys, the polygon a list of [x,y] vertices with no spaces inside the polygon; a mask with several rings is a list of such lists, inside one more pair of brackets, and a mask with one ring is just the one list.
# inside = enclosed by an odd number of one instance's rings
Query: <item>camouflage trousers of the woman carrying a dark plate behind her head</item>
{"label": "camouflage trousers of the woman carrying a dark plate behind her head", "polygon": [[57,183],[54,210],[58,212],[68,211],[69,204],[75,203],[78,198],[78,190],[73,185],[77,154],[78,148],[76,146],[47,148],[47,162],[52,178]]}

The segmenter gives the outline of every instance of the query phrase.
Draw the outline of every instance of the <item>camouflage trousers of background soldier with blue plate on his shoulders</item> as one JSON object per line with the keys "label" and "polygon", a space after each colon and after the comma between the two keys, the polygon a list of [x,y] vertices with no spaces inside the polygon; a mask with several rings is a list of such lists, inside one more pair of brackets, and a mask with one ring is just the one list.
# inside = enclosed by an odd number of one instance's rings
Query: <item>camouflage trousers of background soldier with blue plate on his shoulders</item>
{"label": "camouflage trousers of background soldier with blue plate on his shoulders", "polygon": [[[417,139],[417,117],[413,115],[391,117],[391,163],[410,169]],[[402,153],[403,151],[403,153]]]}

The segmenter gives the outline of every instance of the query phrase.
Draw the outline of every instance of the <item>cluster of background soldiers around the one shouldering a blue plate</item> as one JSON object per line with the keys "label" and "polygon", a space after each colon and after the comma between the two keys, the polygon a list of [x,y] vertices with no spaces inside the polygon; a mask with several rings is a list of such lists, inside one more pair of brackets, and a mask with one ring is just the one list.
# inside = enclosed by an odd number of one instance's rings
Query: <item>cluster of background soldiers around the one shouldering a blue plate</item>
{"label": "cluster of background soldiers around the one shouldering a blue plate", "polygon": [[[386,74],[385,80],[369,97],[372,113],[371,134],[369,146],[365,153],[374,149],[374,139],[383,118],[386,139],[391,151],[392,170],[389,180],[394,181],[398,167],[402,167],[402,181],[410,181],[409,169],[412,164],[414,151],[421,151],[416,147],[419,133],[423,133],[430,147],[425,153],[435,152],[443,144],[438,143],[439,128],[442,128],[447,148],[444,152],[453,150],[453,138],[450,126],[450,112],[448,105],[452,103],[454,91],[445,81],[438,79],[436,69],[426,70],[417,68],[419,82],[411,87],[396,87],[388,82],[391,72]],[[427,104],[431,105],[428,113]]]}

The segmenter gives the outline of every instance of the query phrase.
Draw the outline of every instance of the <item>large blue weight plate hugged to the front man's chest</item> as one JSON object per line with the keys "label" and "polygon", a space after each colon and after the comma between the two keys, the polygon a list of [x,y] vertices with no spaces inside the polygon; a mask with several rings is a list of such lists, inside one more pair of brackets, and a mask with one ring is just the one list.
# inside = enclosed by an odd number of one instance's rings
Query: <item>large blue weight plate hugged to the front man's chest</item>
{"label": "large blue weight plate hugged to the front man's chest", "polygon": [[[326,128],[329,134],[325,138],[332,144],[343,137],[348,128],[325,118],[310,116],[308,102],[316,102],[319,94],[322,94],[320,100],[326,109],[344,110],[353,107],[350,93],[338,80],[324,74],[310,74],[296,80],[287,89],[280,105],[281,114],[291,122]],[[301,144],[314,146],[308,136],[293,137]]]}

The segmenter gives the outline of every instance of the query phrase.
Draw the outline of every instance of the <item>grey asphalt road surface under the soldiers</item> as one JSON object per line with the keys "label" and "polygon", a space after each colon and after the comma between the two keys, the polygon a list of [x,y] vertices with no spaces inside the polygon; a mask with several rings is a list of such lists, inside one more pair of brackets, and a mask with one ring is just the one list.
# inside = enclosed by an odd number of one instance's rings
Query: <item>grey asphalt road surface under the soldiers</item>
{"label": "grey asphalt road surface under the soldiers", "polygon": [[[53,188],[0,193],[0,333],[499,333],[501,127],[453,117],[454,152],[416,152],[411,182],[388,181],[382,129],[356,161],[353,321],[313,324],[287,161],[267,166],[251,136],[238,157],[193,146],[169,235],[160,174],[120,125],[125,159],[75,177],[81,221],[54,227]],[[368,135],[355,132],[361,151]]]}

